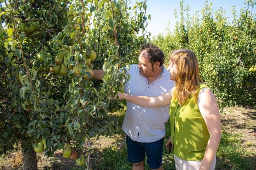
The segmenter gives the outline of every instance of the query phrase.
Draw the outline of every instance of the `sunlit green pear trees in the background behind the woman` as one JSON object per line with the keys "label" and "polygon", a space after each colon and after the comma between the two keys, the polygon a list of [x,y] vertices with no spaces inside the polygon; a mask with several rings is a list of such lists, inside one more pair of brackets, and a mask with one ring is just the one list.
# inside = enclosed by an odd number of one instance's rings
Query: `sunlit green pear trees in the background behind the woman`
{"label": "sunlit green pear trees in the background behind the woman", "polygon": [[255,106],[256,103],[256,17],[251,14],[255,2],[250,0],[245,4],[239,18],[233,7],[234,20],[230,24],[222,8],[215,11],[213,17],[211,3],[207,1],[201,16],[196,12],[190,17],[189,8],[184,10],[182,0],[180,21],[177,19],[174,32],[167,30],[166,36],[160,34],[153,38],[153,43],[167,56],[170,51],[180,48],[195,52],[201,78],[213,90],[221,108]]}

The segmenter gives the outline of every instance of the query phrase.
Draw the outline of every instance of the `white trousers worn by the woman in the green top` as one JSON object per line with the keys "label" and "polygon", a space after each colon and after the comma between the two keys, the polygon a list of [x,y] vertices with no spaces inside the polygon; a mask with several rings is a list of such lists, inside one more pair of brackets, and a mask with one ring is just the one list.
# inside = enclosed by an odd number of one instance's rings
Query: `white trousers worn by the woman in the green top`
{"label": "white trousers worn by the woman in the green top", "polygon": [[[180,159],[174,154],[175,168],[176,170],[199,170],[201,167],[202,161],[187,161]],[[211,163],[210,170],[215,169],[216,164],[216,156],[213,158],[213,162]]]}

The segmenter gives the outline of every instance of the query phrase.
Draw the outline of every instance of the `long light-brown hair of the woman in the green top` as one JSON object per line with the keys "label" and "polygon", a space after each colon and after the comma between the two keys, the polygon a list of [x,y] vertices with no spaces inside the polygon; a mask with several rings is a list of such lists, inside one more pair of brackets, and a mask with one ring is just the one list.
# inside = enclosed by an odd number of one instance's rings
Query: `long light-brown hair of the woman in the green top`
{"label": "long light-brown hair of the woman in the green top", "polygon": [[173,97],[178,99],[180,105],[190,96],[193,96],[196,102],[197,91],[202,82],[196,54],[187,49],[175,50],[171,53],[170,60],[177,65],[178,69]]}

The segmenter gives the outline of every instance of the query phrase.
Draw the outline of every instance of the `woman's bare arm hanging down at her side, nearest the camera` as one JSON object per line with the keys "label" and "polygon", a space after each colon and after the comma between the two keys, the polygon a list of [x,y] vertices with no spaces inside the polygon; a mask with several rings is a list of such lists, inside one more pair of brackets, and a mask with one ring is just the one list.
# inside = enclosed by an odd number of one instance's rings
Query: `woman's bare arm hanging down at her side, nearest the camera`
{"label": "woman's bare arm hanging down at her side, nearest the camera", "polygon": [[200,170],[209,170],[220,144],[220,112],[217,100],[210,89],[202,89],[200,91],[197,104],[210,133],[210,139],[207,143]]}

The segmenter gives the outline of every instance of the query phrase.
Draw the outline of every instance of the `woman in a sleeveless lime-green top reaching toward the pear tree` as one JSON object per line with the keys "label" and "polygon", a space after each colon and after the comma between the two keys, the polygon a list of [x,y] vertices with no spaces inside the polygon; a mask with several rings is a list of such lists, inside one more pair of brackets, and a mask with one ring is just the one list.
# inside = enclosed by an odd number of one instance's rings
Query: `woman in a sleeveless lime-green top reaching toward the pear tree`
{"label": "woman in a sleeveless lime-green top reaching toward the pear tree", "polygon": [[[125,99],[144,107],[170,106],[171,136],[169,143],[177,170],[207,169],[216,164],[221,138],[220,113],[216,98],[199,76],[198,61],[193,51],[182,49],[170,56],[167,68],[175,87],[156,96],[132,96],[119,92]],[[146,115],[145,115],[146,116]]]}

